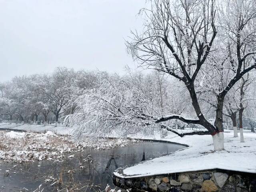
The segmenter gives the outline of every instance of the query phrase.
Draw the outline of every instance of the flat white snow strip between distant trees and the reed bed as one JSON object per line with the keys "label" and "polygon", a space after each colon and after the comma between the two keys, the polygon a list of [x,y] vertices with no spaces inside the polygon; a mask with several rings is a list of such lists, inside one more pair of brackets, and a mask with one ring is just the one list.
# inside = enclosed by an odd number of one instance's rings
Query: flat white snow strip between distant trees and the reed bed
{"label": "flat white snow strip between distant trees and the reed bed", "polygon": [[28,132],[46,132],[51,131],[60,135],[71,135],[74,128],[66,126],[57,126],[52,125],[30,125],[30,124],[15,124],[15,123],[0,123],[0,129],[15,129],[23,130]]}

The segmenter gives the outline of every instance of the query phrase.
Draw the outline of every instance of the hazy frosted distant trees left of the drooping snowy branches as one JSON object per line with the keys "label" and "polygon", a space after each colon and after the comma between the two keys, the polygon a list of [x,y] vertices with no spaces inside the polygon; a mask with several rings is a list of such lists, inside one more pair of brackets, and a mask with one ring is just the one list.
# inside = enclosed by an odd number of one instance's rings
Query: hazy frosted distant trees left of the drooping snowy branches
{"label": "hazy frosted distant trees left of the drooping snowy branches", "polygon": [[76,111],[72,102],[79,89],[90,89],[96,72],[56,68],[52,74],[18,76],[0,84],[0,114],[3,120],[58,122]]}

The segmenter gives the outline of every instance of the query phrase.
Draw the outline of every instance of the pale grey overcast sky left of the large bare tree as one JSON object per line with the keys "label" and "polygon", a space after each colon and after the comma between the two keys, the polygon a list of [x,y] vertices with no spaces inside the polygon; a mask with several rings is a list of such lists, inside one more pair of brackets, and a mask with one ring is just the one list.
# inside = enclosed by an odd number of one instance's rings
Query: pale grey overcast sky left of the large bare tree
{"label": "pale grey overcast sky left of the large bare tree", "polygon": [[0,0],[0,81],[76,70],[136,66],[124,38],[141,29],[144,0]]}

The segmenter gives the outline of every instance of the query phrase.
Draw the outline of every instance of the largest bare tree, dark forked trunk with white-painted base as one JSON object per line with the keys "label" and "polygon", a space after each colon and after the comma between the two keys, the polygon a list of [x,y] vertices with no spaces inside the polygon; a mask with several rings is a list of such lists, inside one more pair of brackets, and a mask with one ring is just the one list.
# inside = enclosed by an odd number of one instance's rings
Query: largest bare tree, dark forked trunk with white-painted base
{"label": "largest bare tree, dark forked trunk with white-painted base", "polygon": [[[256,67],[256,60],[252,60],[255,46],[250,43],[244,44],[249,42],[249,39],[252,42],[255,38],[255,2],[246,1],[243,10],[241,6],[236,5],[238,11],[233,17],[238,22],[229,29],[219,22],[222,17],[217,14],[215,0],[152,0],[150,3],[150,9],[142,9],[141,12],[146,16],[145,30],[142,34],[137,31],[132,32],[132,41],[127,42],[128,50],[140,66],[156,69],[184,82],[197,116],[196,119],[188,119],[174,114],[157,118],[156,123],[178,119],[186,123],[200,124],[212,134],[214,150],[222,150],[224,149],[222,122],[225,96],[244,74]],[[222,14],[227,15],[224,12]],[[218,88],[216,91],[216,118],[212,125],[202,113],[196,92],[196,81],[198,74],[207,66],[218,64],[226,68],[227,66],[224,65],[229,65],[224,59],[226,56],[216,55],[220,50],[226,50],[218,41],[221,37],[217,36],[216,24],[221,30],[229,30],[229,32],[231,30],[232,40],[236,44],[236,62],[233,63],[236,72],[233,77],[227,78],[224,88]],[[212,47],[219,50],[215,55]],[[221,59],[217,60],[218,57]],[[246,62],[247,59],[252,61]]]}

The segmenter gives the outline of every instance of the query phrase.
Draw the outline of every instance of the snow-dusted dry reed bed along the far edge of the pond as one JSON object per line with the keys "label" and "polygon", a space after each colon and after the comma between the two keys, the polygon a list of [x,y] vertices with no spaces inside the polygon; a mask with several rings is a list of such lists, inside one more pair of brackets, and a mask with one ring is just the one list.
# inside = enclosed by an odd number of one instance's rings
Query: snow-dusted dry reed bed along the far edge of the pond
{"label": "snow-dusted dry reed bed along the far edge of the pond", "polygon": [[60,162],[64,158],[73,158],[74,153],[84,148],[105,150],[127,146],[137,140],[84,138],[72,140],[71,136],[57,135],[51,131],[46,133],[33,132],[0,132],[0,160],[4,162],[34,162],[54,160]]}

